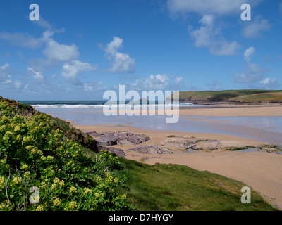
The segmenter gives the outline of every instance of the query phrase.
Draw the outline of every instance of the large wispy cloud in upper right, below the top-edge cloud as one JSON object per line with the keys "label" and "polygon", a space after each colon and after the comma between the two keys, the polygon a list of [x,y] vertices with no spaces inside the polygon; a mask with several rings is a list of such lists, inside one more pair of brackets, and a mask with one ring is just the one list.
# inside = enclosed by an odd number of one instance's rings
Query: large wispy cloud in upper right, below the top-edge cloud
{"label": "large wispy cloud in upper right, below the top-edge cloud", "polygon": [[195,46],[207,47],[215,56],[233,56],[240,48],[236,41],[226,41],[221,35],[219,27],[216,27],[214,15],[203,15],[199,21],[201,27],[198,30],[190,30],[190,37],[195,40]]}

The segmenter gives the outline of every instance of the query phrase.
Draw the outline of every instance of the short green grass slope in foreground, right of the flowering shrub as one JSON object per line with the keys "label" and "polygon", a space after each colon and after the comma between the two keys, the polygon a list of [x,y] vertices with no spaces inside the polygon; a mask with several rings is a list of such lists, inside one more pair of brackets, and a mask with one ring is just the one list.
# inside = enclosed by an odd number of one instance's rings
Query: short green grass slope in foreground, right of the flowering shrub
{"label": "short green grass slope in foreground, right of the flowering shrub", "polygon": [[240,201],[245,184],[210,172],[181,165],[145,165],[121,159],[127,187],[118,191],[128,195],[138,210],[148,211],[266,211],[276,210],[252,190],[252,203]]}

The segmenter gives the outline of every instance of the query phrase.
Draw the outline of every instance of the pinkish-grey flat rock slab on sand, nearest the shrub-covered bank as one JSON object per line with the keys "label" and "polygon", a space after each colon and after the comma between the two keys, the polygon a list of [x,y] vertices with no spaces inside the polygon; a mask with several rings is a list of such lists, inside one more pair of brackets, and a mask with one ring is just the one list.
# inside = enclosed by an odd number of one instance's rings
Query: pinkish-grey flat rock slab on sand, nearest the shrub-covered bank
{"label": "pinkish-grey flat rock slab on sand, nearest the shrub-covered bank", "polygon": [[106,131],[106,132],[85,132],[102,146],[115,146],[115,145],[137,145],[149,141],[149,136],[143,136],[140,134],[133,134],[129,131]]}

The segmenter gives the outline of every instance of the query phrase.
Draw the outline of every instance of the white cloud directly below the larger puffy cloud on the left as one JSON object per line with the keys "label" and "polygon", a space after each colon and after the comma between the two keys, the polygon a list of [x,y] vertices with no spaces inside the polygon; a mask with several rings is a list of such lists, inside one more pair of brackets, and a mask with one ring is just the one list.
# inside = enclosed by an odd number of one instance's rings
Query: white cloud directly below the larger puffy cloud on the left
{"label": "white cloud directly below the larger puffy cloud on the left", "polygon": [[81,72],[93,70],[97,70],[97,65],[82,63],[78,60],[72,60],[71,63],[65,63],[63,65],[63,72],[61,72],[61,76],[65,77],[68,81],[79,84],[80,82],[78,82],[78,75],[80,75]]}

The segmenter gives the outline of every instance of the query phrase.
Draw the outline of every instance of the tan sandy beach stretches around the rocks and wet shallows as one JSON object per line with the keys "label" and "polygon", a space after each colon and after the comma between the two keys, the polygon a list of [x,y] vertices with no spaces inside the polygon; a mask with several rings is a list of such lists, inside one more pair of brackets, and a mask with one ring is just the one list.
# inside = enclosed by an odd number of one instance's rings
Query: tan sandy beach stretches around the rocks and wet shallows
{"label": "tan sandy beach stretches around the rocks and wet shallows", "polygon": [[[191,108],[181,109],[180,115],[197,116],[221,116],[221,117],[281,117],[281,106],[259,106],[243,108]],[[193,136],[197,139],[209,139],[217,141],[237,141],[245,146],[262,146],[266,143],[255,139],[246,139],[239,136],[216,133],[196,133],[181,131],[154,131],[153,129],[142,129],[132,127],[130,124],[97,124],[80,125],[72,122],[73,127],[82,131],[130,131],[134,134],[143,134],[149,136],[150,140],[138,146],[145,144],[155,144],[161,146],[161,143],[168,139],[168,136]],[[251,130],[250,130],[251,131]],[[112,146],[121,148],[125,151],[125,158],[137,160],[140,162],[154,165],[155,163],[187,165],[200,171],[209,171],[226,176],[231,179],[242,181],[251,188],[261,193],[272,205],[282,210],[282,155],[264,152],[238,152],[226,150],[213,150],[209,152],[194,151],[184,153],[181,150],[174,150],[173,154],[140,154],[128,150],[133,146]]]}

